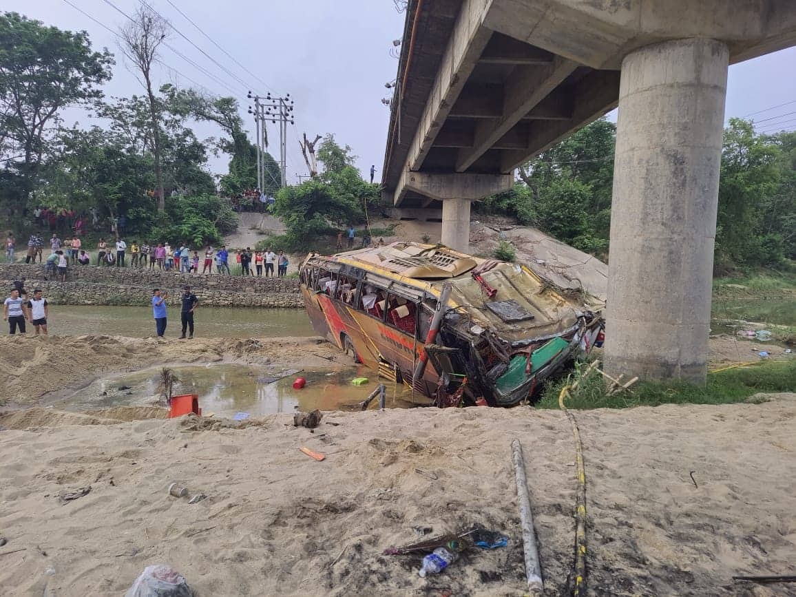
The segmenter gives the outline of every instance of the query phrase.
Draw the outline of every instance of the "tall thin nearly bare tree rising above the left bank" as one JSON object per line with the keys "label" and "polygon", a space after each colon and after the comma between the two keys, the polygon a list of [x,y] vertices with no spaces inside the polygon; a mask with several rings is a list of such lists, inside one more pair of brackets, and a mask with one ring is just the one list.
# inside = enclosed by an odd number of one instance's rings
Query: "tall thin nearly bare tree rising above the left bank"
{"label": "tall thin nearly bare tree rising above the left bank", "polygon": [[119,31],[122,52],[141,72],[146,96],[149,99],[154,177],[158,193],[158,211],[160,212],[166,209],[166,194],[163,191],[161,171],[160,112],[162,108],[154,96],[152,65],[158,60],[158,49],[168,36],[169,26],[168,21],[142,3],[135,11],[133,20]]}

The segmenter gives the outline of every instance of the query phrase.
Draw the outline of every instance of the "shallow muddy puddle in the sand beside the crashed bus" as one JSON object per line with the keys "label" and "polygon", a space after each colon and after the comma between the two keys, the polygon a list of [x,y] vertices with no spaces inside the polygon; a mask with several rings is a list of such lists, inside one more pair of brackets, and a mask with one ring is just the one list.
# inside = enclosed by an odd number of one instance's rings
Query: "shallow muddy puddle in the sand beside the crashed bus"
{"label": "shallow muddy puddle in the sand beside the crashed bus", "polygon": [[[72,396],[53,403],[56,408],[87,411],[117,406],[150,406],[160,395],[160,367],[144,369],[117,377],[97,380]],[[197,394],[203,415],[232,418],[237,413],[249,416],[268,415],[275,412],[330,410],[357,410],[357,403],[377,388],[380,380],[370,369],[349,367],[343,371],[296,372],[287,369],[252,367],[239,364],[213,364],[208,366],[175,366],[178,377],[174,394]],[[275,379],[290,373],[281,379]],[[307,380],[306,387],[294,389],[296,377]],[[368,377],[365,385],[354,386],[355,377]],[[388,408],[411,408],[429,404],[423,396],[395,384],[387,385]],[[375,400],[370,408],[377,408]]]}

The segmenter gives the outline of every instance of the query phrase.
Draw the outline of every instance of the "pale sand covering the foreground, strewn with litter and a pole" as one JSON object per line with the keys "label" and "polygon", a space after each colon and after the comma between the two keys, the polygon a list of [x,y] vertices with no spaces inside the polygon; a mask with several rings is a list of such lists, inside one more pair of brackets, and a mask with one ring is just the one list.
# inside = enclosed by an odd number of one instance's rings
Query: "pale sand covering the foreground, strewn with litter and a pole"
{"label": "pale sand covering the foreground, strewn with litter and a pole", "polygon": [[[793,571],[794,397],[577,412],[590,594],[792,595],[731,577]],[[522,595],[513,437],[545,594],[568,592],[575,455],[561,412],[329,413],[314,433],[286,415],[100,419],[0,416],[0,554],[24,548],[0,556],[3,595],[122,595],[155,563],[199,595]],[[189,505],[166,494],[171,482],[208,497]],[[416,527],[472,524],[505,532],[509,545],[466,552],[426,580],[419,557],[380,555],[418,540]]]}

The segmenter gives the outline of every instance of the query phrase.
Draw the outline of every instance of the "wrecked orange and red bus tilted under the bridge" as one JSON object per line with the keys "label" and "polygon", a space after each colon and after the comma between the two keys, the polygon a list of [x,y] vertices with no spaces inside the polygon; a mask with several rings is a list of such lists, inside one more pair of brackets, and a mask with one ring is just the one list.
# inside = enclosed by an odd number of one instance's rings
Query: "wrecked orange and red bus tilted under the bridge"
{"label": "wrecked orange and red bus tilted under the bridge", "polygon": [[602,340],[599,299],[442,245],[311,254],[300,277],[318,334],[440,407],[533,401]]}

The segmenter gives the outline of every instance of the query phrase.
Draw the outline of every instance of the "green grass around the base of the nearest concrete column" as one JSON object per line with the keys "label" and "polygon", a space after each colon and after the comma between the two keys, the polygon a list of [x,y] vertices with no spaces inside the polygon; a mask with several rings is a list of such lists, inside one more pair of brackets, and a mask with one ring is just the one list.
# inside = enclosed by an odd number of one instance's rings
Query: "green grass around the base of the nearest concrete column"
{"label": "green grass around the base of the nearest concrete column", "polygon": [[[579,366],[582,369],[583,365]],[[572,376],[578,375],[577,371]],[[546,384],[537,408],[559,408],[558,396],[567,379]],[[567,399],[568,408],[632,408],[661,404],[736,404],[758,392],[796,392],[796,360],[760,361],[758,364],[708,373],[704,386],[683,382],[645,381],[630,391],[607,396],[602,376],[591,373]]]}

